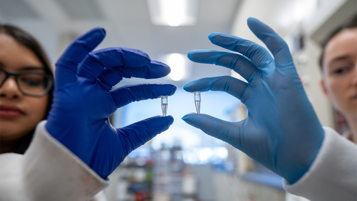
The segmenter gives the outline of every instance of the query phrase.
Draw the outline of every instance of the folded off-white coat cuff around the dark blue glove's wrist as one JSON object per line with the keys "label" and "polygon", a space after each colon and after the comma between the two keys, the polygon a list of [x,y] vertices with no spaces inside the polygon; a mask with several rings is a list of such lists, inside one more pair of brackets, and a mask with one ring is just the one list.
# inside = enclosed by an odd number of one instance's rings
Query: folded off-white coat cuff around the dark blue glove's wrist
{"label": "folded off-white coat cuff around the dark blue glove's wrist", "polygon": [[[37,124],[34,138],[24,154],[25,181],[28,189],[40,189],[32,191],[35,194],[38,192],[38,195],[33,195],[36,198],[34,200],[89,200],[109,186],[109,178],[101,178],[52,137],[45,128],[46,123],[47,121],[41,121]],[[46,185],[43,185],[44,183]],[[51,195],[43,197],[44,192],[51,192]]]}

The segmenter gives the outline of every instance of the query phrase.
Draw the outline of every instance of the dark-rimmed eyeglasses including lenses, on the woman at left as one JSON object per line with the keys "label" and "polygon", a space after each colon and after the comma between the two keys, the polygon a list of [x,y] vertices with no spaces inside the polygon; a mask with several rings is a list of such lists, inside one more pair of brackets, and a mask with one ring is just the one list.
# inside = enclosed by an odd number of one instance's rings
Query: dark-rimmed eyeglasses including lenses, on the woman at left
{"label": "dark-rimmed eyeglasses including lenses, on the woman at left", "polygon": [[22,73],[8,73],[0,68],[0,87],[7,78],[10,76],[15,77],[19,90],[24,95],[32,97],[41,97],[46,95],[53,84],[51,75],[40,72],[22,72]]}

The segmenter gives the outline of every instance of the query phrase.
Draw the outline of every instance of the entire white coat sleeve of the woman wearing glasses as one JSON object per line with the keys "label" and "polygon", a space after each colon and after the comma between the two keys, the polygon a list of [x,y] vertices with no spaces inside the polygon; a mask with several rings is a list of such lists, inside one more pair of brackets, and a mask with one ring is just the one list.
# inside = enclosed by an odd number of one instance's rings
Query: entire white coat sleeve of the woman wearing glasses
{"label": "entire white coat sleeve of the woman wearing glasses", "polygon": [[109,186],[41,121],[24,155],[0,154],[1,201],[86,201]]}

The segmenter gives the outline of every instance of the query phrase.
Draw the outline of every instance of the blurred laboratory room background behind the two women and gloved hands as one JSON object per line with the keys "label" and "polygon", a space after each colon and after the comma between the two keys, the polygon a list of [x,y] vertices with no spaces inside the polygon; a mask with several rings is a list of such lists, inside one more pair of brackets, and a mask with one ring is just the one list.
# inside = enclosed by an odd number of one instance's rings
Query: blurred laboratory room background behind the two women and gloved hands
{"label": "blurred laboratory room background behind the two women and gloved hands", "polygon": [[[182,88],[185,83],[221,75],[243,79],[227,68],[193,63],[186,54],[193,49],[223,50],[210,43],[211,32],[263,45],[246,24],[248,17],[258,18],[286,40],[321,123],[341,133],[346,123],[318,85],[318,57],[327,34],[356,14],[356,0],[0,0],[0,22],[34,35],[53,64],[72,40],[102,26],[107,35],[97,49],[140,49],[170,65],[171,73],[164,78],[124,79],[115,86],[176,85],[167,109],[175,122],[130,153],[112,173],[112,183],[104,190],[107,201],[304,200],[288,195],[281,177],[181,120],[196,112],[193,94]],[[201,101],[202,113],[226,121],[247,115],[238,99],[223,92],[204,92]],[[157,115],[162,115],[161,100],[143,100],[118,109],[111,123],[124,127]]]}

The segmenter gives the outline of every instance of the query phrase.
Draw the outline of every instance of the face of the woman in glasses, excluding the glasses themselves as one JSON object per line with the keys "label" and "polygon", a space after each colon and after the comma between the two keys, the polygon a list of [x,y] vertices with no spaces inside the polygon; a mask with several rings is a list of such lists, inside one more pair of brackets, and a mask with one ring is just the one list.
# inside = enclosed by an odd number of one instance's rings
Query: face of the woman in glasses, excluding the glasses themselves
{"label": "face of the woman in glasses, excluding the glasses themselves", "polygon": [[[0,68],[9,73],[45,72],[36,55],[6,34],[0,34]],[[46,114],[49,95],[21,93],[13,76],[0,87],[0,141],[12,141],[31,132]]]}

